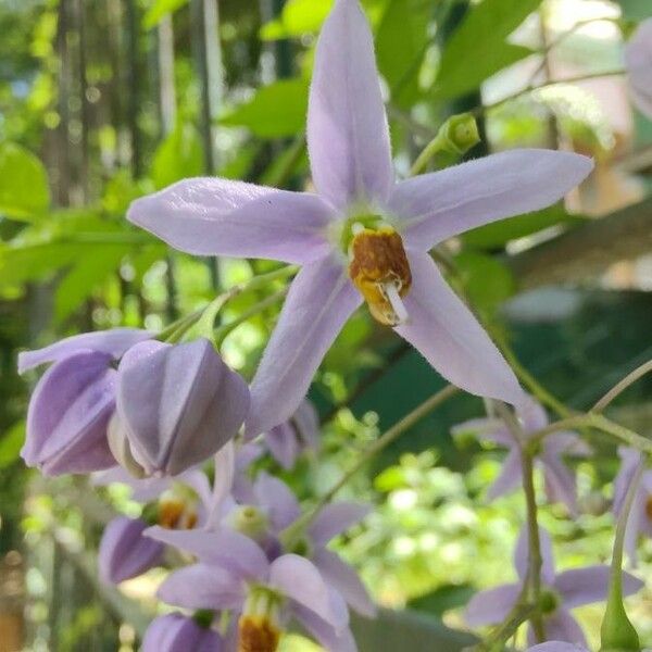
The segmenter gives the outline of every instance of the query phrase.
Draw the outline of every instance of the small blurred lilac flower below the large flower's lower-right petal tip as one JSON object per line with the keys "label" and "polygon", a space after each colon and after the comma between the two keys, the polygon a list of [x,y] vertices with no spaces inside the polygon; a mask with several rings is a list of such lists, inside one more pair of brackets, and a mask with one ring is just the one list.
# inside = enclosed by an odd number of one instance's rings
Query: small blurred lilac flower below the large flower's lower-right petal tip
{"label": "small blurred lilac flower below the large flower's lower-right petal tip", "polygon": [[[534,400],[518,411],[518,416],[526,437],[541,430],[549,423],[546,410]],[[502,471],[487,492],[489,500],[494,500],[521,486],[521,450],[502,419],[497,417],[471,419],[455,426],[452,431],[453,434],[475,431],[480,438],[509,449]],[[591,449],[576,432],[559,431],[543,439],[541,450],[536,456],[537,465],[543,472],[549,500],[563,502],[572,514],[577,512],[575,475],[564,464],[562,455],[585,456],[590,452]]]}

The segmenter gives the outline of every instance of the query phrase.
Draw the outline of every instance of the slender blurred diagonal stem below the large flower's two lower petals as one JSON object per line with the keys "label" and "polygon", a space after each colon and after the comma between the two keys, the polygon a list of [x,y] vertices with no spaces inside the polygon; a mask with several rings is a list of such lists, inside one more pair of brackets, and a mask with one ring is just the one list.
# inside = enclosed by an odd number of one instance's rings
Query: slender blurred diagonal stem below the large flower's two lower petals
{"label": "slender blurred diagonal stem below the large flower's two lower petals", "polygon": [[322,496],[313,510],[303,514],[283,534],[283,542],[286,548],[290,549],[292,543],[301,536],[304,529],[315,519],[317,514],[337,496],[349,480],[358,474],[358,472],[377,453],[386,449],[390,443],[396,441],[405,430],[409,430],[417,422],[424,418],[427,414],[439,408],[442,403],[455,396],[460,390],[453,385],[447,385],[443,389],[426,399],[421,405],[417,405],[412,412],[406,414],[400,422],[396,423],[389,430],[386,430],[376,441],[374,441],[365,451],[358,457],[353,466],[347,471],[342,477]]}

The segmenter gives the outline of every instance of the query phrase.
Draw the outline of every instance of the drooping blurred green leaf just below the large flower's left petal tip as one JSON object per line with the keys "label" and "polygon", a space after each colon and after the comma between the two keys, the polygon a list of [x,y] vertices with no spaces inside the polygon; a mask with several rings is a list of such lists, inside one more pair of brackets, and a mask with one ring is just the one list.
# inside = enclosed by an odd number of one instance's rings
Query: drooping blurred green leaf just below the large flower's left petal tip
{"label": "drooping blurred green leaf just below the large flower's left petal tip", "polygon": [[54,294],[54,318],[61,323],[90,297],[120,266],[130,248],[125,246],[93,247],[76,259]]}

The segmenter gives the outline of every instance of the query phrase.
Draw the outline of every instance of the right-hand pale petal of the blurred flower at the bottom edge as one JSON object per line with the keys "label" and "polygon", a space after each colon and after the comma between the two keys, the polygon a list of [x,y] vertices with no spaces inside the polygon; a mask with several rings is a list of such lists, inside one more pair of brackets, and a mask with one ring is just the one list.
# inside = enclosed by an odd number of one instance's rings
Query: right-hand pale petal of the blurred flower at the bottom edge
{"label": "right-hand pale petal of the blurred flower at the bottom edge", "polygon": [[349,622],[347,610],[334,603],[331,592],[312,562],[297,554],[284,554],[269,566],[269,586],[298,604],[310,609],[336,629]]}

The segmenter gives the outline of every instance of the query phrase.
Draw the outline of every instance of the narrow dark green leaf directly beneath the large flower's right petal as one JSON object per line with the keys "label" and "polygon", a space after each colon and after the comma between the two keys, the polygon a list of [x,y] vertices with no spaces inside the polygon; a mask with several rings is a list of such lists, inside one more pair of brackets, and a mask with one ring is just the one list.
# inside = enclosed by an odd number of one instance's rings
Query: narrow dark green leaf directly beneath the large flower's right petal
{"label": "narrow dark green leaf directly beneath the large flower's right petal", "polygon": [[462,240],[465,244],[477,249],[498,249],[504,247],[510,240],[530,236],[551,226],[570,226],[585,220],[585,217],[569,215],[563,206],[555,205],[480,226],[464,234]]}

